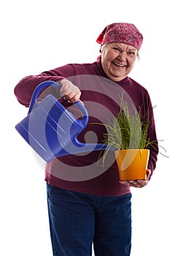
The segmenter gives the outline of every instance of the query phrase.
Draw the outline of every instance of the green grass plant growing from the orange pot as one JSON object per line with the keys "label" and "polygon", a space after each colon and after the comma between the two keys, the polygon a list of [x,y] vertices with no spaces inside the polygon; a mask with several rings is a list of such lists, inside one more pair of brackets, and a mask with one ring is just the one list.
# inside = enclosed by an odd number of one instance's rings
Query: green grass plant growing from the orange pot
{"label": "green grass plant growing from the orange pot", "polygon": [[[107,133],[103,135],[102,142],[108,145],[104,151],[104,159],[112,147],[117,151],[123,149],[149,149],[150,147],[158,151],[158,141],[151,141],[148,137],[148,129],[150,127],[149,109],[146,111],[145,116],[142,116],[142,108],[137,110],[134,105],[129,106],[124,102],[123,97],[120,97],[119,113],[112,120],[108,120],[107,124],[102,125],[107,129]],[[161,146],[161,148],[163,147]],[[163,149],[165,150],[165,148]],[[162,155],[165,156],[164,154]]]}

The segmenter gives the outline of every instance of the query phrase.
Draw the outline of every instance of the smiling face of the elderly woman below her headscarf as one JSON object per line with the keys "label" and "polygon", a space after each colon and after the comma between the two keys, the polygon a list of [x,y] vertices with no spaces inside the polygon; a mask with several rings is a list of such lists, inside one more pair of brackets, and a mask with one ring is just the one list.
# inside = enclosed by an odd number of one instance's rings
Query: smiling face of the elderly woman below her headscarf
{"label": "smiling face of the elderly woman below her headscarf", "polygon": [[131,45],[113,42],[101,46],[101,65],[107,77],[120,81],[134,67],[138,51]]}

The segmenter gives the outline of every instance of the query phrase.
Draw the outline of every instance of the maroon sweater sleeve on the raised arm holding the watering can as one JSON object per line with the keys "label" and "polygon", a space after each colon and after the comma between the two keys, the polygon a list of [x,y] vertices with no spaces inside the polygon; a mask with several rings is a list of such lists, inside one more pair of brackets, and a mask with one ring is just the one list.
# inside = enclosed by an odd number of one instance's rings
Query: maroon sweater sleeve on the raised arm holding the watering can
{"label": "maroon sweater sleeve on the raised arm holding the watering can", "polygon": [[64,78],[69,78],[74,75],[74,65],[67,64],[56,69],[51,69],[50,71],[42,72],[39,75],[29,75],[26,78],[20,80],[20,82],[15,86],[14,94],[18,99],[20,104],[28,107],[31,101],[32,94],[36,86],[39,83],[45,82],[47,80],[53,80],[59,82]]}

